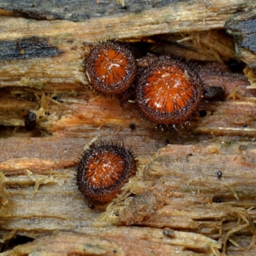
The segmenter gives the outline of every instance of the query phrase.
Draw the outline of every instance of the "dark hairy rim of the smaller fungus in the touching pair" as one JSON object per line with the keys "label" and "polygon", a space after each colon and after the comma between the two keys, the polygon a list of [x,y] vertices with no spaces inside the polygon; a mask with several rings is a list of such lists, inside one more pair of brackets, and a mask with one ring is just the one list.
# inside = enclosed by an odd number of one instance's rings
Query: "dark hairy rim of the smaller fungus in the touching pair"
{"label": "dark hairy rim of the smaller fungus in the touching pair", "polygon": [[[118,83],[108,84],[97,76],[95,63],[99,56],[104,53],[104,51],[108,50],[115,51],[116,54],[122,54],[125,60],[127,60],[128,65],[125,67],[125,76],[122,78],[122,81],[118,81]],[[131,49],[129,49],[129,47],[124,43],[106,41],[90,46],[90,51],[86,54],[86,58],[84,60],[84,70],[88,77],[90,86],[92,86],[96,92],[108,96],[123,93],[131,86],[136,77],[137,65]]]}

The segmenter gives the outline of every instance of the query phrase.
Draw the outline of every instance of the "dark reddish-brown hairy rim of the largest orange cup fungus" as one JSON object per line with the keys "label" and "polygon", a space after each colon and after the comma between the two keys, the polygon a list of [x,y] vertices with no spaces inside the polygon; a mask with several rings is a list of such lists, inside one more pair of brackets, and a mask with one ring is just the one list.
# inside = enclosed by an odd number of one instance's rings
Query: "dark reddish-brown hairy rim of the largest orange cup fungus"
{"label": "dark reddish-brown hairy rim of the largest orange cup fungus", "polygon": [[[143,88],[147,85],[147,79],[152,76],[153,72],[164,67],[172,66],[186,72],[186,78],[193,86],[193,95],[188,100],[186,105],[173,112],[159,111],[148,106],[145,99]],[[200,101],[204,95],[204,87],[200,77],[186,63],[170,58],[169,56],[160,56],[156,61],[151,63],[147,68],[141,71],[141,74],[136,83],[136,102],[143,116],[156,124],[180,124],[188,120],[191,115],[198,109]]]}

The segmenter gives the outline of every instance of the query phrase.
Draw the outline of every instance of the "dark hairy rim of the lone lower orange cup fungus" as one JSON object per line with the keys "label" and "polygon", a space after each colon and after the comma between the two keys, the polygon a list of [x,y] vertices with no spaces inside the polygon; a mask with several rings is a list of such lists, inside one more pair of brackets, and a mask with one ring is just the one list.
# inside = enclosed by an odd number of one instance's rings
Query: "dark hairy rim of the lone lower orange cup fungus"
{"label": "dark hairy rim of the lone lower orange cup fungus", "polygon": [[[93,157],[97,158],[99,154],[110,153],[114,156],[120,157],[124,166],[122,175],[111,186],[103,187],[93,186],[93,180],[87,179],[86,172],[88,173],[88,159]],[[92,162],[90,162],[92,163]],[[83,151],[81,160],[77,164],[76,168],[76,181],[79,191],[83,193],[86,198],[92,200],[97,204],[106,204],[116,198],[121,192],[122,186],[128,182],[129,178],[136,174],[138,161],[136,156],[131,151],[131,148],[124,147],[124,143],[118,141],[95,141]],[[99,184],[98,184],[99,185]]]}

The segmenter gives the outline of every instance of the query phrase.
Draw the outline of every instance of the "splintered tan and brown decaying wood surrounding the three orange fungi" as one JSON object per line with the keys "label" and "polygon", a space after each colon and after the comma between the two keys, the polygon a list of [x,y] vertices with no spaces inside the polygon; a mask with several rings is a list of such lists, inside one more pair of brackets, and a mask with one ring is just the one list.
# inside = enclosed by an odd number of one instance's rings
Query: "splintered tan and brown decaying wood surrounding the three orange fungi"
{"label": "splintered tan and brown decaying wood surrounding the three orange fungi", "polygon": [[[233,38],[255,6],[180,1],[83,22],[0,10],[0,255],[255,255],[255,56]],[[102,38],[135,43],[140,68],[155,54],[189,61],[223,99],[156,126],[133,88],[108,98],[90,88],[84,56]],[[234,72],[237,56],[248,67]],[[98,139],[124,141],[139,163],[108,205],[91,205],[76,186],[84,145]],[[14,247],[19,237],[35,240]]]}

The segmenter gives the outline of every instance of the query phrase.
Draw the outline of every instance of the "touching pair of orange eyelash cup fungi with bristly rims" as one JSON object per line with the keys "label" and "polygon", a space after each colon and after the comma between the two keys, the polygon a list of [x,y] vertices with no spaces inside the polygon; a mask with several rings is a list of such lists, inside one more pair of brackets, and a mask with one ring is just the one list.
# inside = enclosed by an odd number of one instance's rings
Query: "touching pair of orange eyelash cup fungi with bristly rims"
{"label": "touching pair of orange eyelash cup fungi with bristly rims", "polygon": [[198,109],[204,87],[187,63],[159,56],[138,73],[132,51],[118,42],[93,45],[85,59],[90,86],[102,95],[120,95],[132,84],[145,118],[159,124],[180,124]]}

